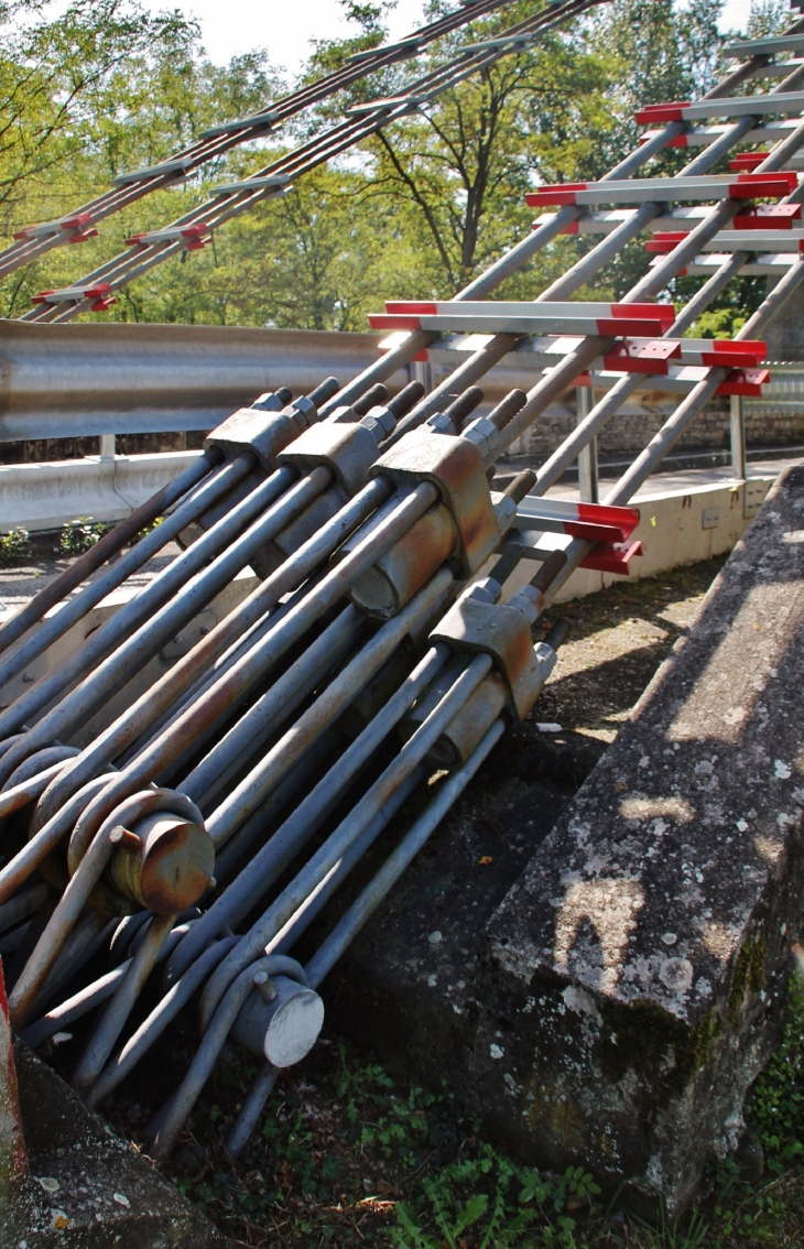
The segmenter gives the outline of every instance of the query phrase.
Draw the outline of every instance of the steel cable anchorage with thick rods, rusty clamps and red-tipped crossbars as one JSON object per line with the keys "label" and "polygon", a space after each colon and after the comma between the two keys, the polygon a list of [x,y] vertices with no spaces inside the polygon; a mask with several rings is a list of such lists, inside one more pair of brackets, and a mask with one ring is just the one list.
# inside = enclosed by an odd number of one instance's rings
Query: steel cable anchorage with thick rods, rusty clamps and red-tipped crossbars
{"label": "steel cable anchorage with thick rods, rusty clamps and red-tipped crossbars", "polygon": [[[377,313],[397,338],[346,387],[280,390],[225,420],[196,463],[0,628],[5,682],[169,541],[182,546],[0,712],[11,1025],[40,1045],[91,1015],[74,1084],[102,1108],[179,1012],[195,1010],[195,1055],[147,1129],[155,1157],[175,1145],[227,1040],[261,1058],[228,1138],[240,1153],[277,1070],[315,1044],[327,973],[507,724],[534,706],[564,637],[559,623],[534,644],[546,606],[579,566],[628,573],[634,492],[714,393],[755,393],[767,380],[760,336],[804,277],[800,250],[784,252],[784,276],[734,342],[685,337],[769,234],[804,237],[804,190],[787,169],[804,122],[767,121],[804,109],[804,61],[767,95],[739,96],[768,66],[778,76],[773,40],[747,52],[705,101],[640,114],[660,129],[605,179],[536,191],[539,209],[557,211],[454,300]],[[700,127],[709,117],[727,122]],[[707,172],[772,126],[778,141],[749,172]],[[674,179],[633,176],[702,132],[703,150]],[[687,200],[694,210],[672,206]],[[601,214],[601,202],[634,206]],[[673,247],[622,301],[572,299],[635,235],[667,234],[668,219]],[[589,221],[603,237],[538,300],[486,301]],[[723,247],[718,266],[687,306],[655,302],[709,242]],[[431,393],[411,382],[388,401],[385,380],[456,333],[479,336],[464,362]],[[527,393],[477,417],[477,382],[529,335],[552,335],[557,352]],[[618,373],[605,397],[538,473],[494,490],[498,457],[601,362]],[[680,400],[604,502],[544,498],[645,373],[672,373]],[[536,575],[504,601],[523,558]],[[70,744],[246,566],[260,578],[252,593],[89,744]],[[300,938],[414,791],[423,809],[302,965]],[[135,1028],[146,984],[159,997]]]}

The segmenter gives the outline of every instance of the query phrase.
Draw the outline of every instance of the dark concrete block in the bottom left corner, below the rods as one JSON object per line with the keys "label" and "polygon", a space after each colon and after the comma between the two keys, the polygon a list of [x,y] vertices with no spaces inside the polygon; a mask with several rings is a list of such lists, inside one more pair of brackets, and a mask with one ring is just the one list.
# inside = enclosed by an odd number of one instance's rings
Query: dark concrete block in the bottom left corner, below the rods
{"label": "dark concrete block in the bottom left corner, below the rods", "polygon": [[230,1249],[55,1072],[14,1049],[31,1174],[0,1210],[0,1249]]}

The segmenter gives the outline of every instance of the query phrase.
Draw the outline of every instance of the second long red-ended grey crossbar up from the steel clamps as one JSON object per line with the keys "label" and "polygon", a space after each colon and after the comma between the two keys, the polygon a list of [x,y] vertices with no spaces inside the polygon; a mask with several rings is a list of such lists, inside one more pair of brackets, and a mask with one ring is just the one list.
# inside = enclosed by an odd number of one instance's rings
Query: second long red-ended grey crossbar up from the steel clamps
{"label": "second long red-ended grey crossbar up from the steel clamps", "polygon": [[677,200],[750,200],[789,195],[798,186],[793,171],[728,174],[702,177],[625,177],[604,182],[539,186],[526,196],[531,207],[589,204],[667,204]]}

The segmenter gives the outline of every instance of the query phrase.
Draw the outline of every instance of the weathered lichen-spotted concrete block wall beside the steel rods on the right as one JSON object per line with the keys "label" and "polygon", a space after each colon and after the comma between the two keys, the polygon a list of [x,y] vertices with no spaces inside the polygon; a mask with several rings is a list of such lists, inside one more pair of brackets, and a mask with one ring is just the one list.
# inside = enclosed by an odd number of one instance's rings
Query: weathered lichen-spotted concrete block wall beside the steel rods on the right
{"label": "weathered lichen-spotted concrete block wall beside the steel rods on the right", "polygon": [[507,774],[503,738],[474,812],[325,984],[337,1024],[447,1078],[529,1163],[683,1208],[737,1145],[778,1038],[804,892],[802,688],[793,468],[547,837],[551,802],[527,759]]}

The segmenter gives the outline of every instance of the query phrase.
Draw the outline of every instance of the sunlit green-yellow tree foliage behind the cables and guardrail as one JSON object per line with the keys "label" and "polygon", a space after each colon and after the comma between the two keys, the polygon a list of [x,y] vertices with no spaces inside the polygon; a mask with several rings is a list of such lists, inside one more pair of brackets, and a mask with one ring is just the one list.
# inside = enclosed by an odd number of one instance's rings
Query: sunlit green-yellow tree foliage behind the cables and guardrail
{"label": "sunlit green-yellow tree foliage behind the cables and guardrail", "polygon": [[[316,41],[302,80],[387,34],[387,2],[340,2],[353,34]],[[223,179],[263,166],[350,104],[408,90],[462,45],[499,34],[537,5],[512,0],[417,61],[360,80],[278,136],[237,147],[182,186],[136,201],[101,224],[91,242],[56,249],[5,279],[0,311],[19,316],[35,291],[67,285],[116,255],[131,234],[175,219]],[[452,7],[454,0],[431,0],[427,16]],[[231,221],[213,246],[151,270],[105,315],[363,330],[382,299],[449,296],[528,232],[524,197],[534,184],[599,177],[638,142],[633,115],[640,104],[685,99],[714,84],[725,65],[719,7],[720,0],[601,5]],[[755,0],[752,32],[778,29],[785,7],[785,0]],[[258,49],[222,67],[210,62],[180,11],[152,16],[136,0],[71,0],[52,20],[40,0],[0,0],[5,241],[20,225],[79,207],[124,170],[164,160],[206,126],[265,107],[287,89]],[[672,172],[684,159],[668,152],[654,167]],[[556,240],[501,294],[533,297],[591,245]],[[618,296],[645,265],[642,246],[632,245],[602,275],[603,286]],[[738,311],[752,300],[744,286]]]}

